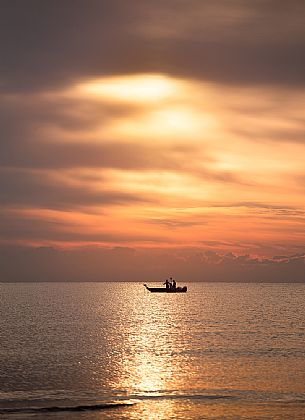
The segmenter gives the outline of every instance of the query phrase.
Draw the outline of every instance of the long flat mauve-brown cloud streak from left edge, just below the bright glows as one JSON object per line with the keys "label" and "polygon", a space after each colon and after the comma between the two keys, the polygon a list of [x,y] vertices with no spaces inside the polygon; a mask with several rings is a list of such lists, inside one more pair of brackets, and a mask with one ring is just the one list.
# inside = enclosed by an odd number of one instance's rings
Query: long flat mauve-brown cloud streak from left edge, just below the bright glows
{"label": "long flat mauve-brown cloud streak from left edge, just below the bright glows", "polygon": [[36,169],[116,168],[129,170],[183,169],[192,147],[158,147],[121,142],[101,143],[6,143],[2,148],[3,167]]}

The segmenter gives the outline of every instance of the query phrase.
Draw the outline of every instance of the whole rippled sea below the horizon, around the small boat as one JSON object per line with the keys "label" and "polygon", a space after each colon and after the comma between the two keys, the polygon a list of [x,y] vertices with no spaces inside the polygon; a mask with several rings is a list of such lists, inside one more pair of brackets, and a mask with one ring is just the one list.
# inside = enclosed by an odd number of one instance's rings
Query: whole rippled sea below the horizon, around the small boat
{"label": "whole rippled sea below the horizon, around the small boat", "polygon": [[187,286],[1,283],[0,418],[305,419],[305,284]]}

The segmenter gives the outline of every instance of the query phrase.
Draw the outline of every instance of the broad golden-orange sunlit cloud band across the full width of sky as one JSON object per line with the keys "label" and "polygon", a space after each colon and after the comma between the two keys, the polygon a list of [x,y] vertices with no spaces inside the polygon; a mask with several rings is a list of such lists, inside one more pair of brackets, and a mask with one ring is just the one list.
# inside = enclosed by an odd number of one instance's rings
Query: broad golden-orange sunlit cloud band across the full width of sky
{"label": "broad golden-orange sunlit cloud band across the full width of sky", "polygon": [[23,141],[6,146],[7,241],[304,243],[304,92],[148,73],[2,100]]}

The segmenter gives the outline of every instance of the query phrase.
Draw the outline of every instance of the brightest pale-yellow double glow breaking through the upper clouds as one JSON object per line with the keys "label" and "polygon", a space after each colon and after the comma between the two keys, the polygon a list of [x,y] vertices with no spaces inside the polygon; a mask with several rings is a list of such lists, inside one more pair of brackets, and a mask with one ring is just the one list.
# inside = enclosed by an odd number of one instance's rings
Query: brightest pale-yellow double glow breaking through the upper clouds
{"label": "brightest pale-yellow double glow breaking through the upper clouds", "polygon": [[[201,91],[197,102],[198,88]],[[202,98],[207,96],[204,86],[162,74],[89,79],[77,84],[68,93],[102,103],[136,106],[135,113],[109,121],[100,127],[100,135],[120,139],[147,138],[154,140],[192,141],[202,133],[217,128],[211,112],[203,112]]]}

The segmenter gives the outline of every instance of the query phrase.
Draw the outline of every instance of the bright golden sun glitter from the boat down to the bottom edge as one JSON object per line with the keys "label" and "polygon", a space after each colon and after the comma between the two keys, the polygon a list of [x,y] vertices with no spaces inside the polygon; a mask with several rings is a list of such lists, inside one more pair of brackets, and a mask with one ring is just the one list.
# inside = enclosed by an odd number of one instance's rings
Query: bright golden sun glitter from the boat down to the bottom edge
{"label": "bright golden sun glitter from the boat down to the bottom edge", "polygon": [[[129,302],[121,303],[122,313],[127,311],[131,322],[118,325],[115,345],[120,348],[120,357],[115,357],[115,387],[127,389],[128,397],[138,400],[134,410],[143,419],[173,417],[177,411],[175,390],[188,386],[178,356],[186,345],[184,332],[178,328],[185,316],[179,301],[169,302],[166,297],[156,298],[143,290],[143,295],[138,293]],[[134,317],[141,317],[142,322],[134,325]],[[188,369],[187,359],[183,360]]]}

